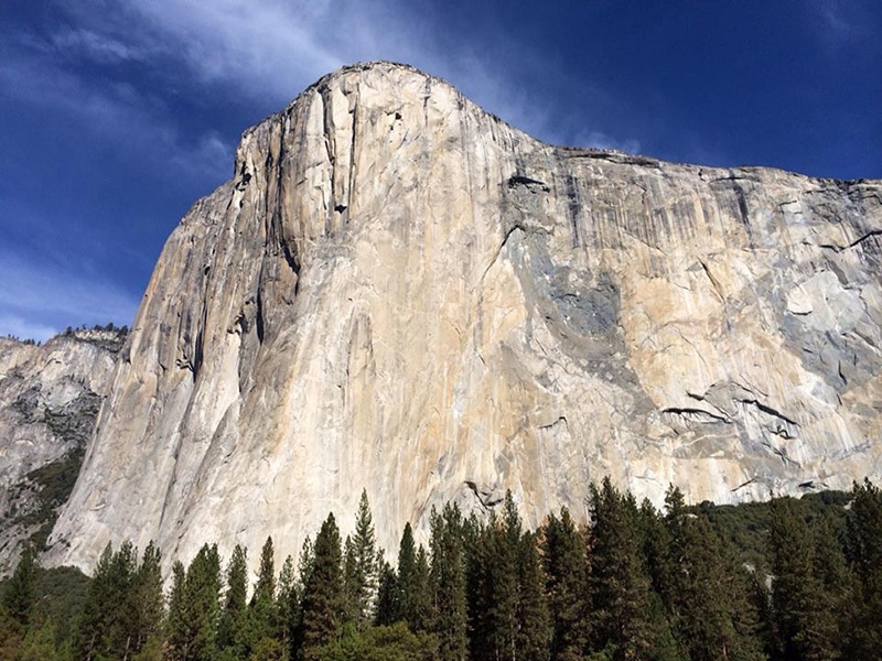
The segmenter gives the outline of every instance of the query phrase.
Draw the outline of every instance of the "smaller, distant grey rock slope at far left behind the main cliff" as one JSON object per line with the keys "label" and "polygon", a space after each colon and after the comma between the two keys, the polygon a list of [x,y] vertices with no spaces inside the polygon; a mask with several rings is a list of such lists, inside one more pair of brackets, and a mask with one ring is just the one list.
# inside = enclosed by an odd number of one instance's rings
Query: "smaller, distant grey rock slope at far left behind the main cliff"
{"label": "smaller, distant grey rock slope at far left behind the main cliff", "polygon": [[76,330],[42,346],[0,338],[0,576],[25,542],[41,546],[52,530],[122,339],[104,330]]}

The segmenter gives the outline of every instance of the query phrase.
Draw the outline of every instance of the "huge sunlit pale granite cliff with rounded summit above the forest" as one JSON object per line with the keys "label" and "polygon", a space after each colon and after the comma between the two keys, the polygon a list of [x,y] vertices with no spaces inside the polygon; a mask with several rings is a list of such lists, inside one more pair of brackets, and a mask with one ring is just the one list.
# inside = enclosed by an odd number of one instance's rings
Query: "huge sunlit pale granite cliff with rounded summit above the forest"
{"label": "huge sunlit pale granite cliff with rounded summit above the forest", "polygon": [[584,516],[882,476],[882,182],[538,142],[448,84],[336,72],[169,239],[51,541],[297,553],[512,489]]}

